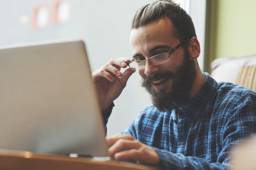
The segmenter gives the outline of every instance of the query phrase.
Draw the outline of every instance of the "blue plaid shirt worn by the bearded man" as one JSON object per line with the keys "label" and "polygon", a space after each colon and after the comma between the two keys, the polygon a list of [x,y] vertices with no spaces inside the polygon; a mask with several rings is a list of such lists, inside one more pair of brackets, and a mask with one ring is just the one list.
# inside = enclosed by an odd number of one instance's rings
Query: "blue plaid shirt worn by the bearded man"
{"label": "blue plaid shirt worn by the bearded man", "polygon": [[233,146],[256,133],[256,93],[204,76],[185,106],[166,112],[146,107],[122,132],[155,149],[164,170],[226,170]]}

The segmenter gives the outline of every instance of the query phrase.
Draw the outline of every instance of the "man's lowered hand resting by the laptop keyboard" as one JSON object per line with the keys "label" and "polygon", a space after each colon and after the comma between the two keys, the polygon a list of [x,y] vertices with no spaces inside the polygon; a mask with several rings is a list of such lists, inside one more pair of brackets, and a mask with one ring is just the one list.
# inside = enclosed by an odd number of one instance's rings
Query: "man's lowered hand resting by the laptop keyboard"
{"label": "man's lowered hand resting by the laptop keyboard", "polygon": [[132,160],[151,165],[160,163],[160,158],[154,149],[130,135],[107,136],[106,141],[109,155],[116,160]]}

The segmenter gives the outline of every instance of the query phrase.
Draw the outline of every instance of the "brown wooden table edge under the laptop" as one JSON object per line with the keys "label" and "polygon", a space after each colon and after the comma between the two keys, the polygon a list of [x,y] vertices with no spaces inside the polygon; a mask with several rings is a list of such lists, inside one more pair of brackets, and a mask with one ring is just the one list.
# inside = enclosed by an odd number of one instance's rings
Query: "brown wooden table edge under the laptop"
{"label": "brown wooden table edge under the laptop", "polygon": [[0,149],[0,170],[156,170],[123,161],[96,161],[54,154]]}

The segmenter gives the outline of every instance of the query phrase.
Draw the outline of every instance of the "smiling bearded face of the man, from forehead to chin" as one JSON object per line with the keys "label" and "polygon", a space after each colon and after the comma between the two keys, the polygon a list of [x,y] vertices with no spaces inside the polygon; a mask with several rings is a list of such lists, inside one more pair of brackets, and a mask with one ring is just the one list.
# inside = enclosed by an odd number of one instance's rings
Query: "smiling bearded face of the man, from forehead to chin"
{"label": "smiling bearded face of the man, from forehead to chin", "polygon": [[[174,36],[172,22],[167,18],[133,29],[130,40],[135,59],[148,59],[180,44]],[[145,68],[139,70],[142,86],[152,95],[153,104],[161,111],[173,109],[174,104],[181,107],[190,100],[190,90],[196,77],[195,61],[182,47],[174,51],[167,62],[152,65],[146,61]]]}

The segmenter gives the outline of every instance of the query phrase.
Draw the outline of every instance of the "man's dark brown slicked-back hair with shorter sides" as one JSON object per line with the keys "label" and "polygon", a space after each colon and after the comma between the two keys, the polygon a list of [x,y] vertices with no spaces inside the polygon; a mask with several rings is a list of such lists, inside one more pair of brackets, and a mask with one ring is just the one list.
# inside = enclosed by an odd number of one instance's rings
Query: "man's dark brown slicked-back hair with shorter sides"
{"label": "man's dark brown slicked-back hair with shorter sides", "polygon": [[174,25],[175,36],[180,41],[193,36],[196,37],[191,17],[184,9],[180,8],[180,5],[171,0],[157,0],[137,10],[132,20],[132,29],[137,29],[164,17],[171,20]]}

